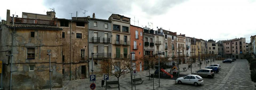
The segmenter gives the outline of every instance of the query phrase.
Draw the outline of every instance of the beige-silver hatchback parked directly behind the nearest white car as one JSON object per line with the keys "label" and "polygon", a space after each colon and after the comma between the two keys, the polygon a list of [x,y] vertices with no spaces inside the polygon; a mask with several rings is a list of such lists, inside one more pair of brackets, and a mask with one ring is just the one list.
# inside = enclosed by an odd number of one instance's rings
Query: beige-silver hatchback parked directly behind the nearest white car
{"label": "beige-silver hatchback parked directly behind the nearest white car", "polygon": [[192,74],[199,75],[201,77],[212,77],[212,78],[215,76],[213,69],[200,69],[193,72]]}

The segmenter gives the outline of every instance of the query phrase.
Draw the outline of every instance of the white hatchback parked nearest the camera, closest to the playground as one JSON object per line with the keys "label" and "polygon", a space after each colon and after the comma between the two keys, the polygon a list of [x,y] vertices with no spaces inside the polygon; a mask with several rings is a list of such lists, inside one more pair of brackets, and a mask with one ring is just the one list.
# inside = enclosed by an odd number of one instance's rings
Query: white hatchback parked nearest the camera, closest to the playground
{"label": "white hatchback parked nearest the camera, closest to the playground", "polygon": [[187,75],[185,77],[180,77],[176,79],[176,82],[179,84],[181,83],[187,83],[187,84],[194,84],[194,86],[198,86],[199,84],[203,83],[203,78],[199,75]]}

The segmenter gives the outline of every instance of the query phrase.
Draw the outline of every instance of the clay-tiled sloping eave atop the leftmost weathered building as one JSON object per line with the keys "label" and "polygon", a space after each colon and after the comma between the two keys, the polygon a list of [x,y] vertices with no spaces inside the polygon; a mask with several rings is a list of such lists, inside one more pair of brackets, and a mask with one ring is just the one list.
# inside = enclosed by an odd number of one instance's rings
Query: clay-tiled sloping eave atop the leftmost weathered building
{"label": "clay-tiled sloping eave atop the leftmost weathered building", "polygon": [[58,29],[62,30],[62,28],[59,28],[57,26],[46,26],[46,25],[28,25],[28,24],[5,24],[8,28],[35,28],[35,29]]}

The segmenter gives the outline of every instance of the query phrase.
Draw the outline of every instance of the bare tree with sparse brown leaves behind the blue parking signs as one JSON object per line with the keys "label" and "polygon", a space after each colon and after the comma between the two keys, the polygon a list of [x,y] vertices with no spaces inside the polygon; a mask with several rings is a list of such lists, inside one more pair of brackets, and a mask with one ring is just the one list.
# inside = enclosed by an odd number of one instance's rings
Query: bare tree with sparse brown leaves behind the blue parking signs
{"label": "bare tree with sparse brown leaves behind the blue parking signs", "polygon": [[[119,86],[119,77],[122,75],[125,75],[127,73],[130,73],[132,70],[131,68],[131,62],[129,59],[121,59],[121,60],[111,60],[111,59],[105,59],[100,62],[101,64],[101,72],[102,73],[109,73],[117,77],[118,81],[118,90],[120,90]],[[134,66],[132,66],[134,67]],[[114,69],[114,72],[111,70]]]}

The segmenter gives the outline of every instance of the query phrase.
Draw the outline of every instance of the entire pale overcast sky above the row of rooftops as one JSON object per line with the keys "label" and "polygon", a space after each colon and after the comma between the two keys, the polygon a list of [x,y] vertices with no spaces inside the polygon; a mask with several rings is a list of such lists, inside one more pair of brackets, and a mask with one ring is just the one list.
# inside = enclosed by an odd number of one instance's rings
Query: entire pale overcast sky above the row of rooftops
{"label": "entire pale overcast sky above the row of rooftops", "polygon": [[[131,24],[186,34],[204,40],[227,40],[256,35],[256,0],[3,0],[0,17],[6,10],[21,17],[22,12],[46,14],[55,8],[56,17],[71,19],[91,16],[108,19],[112,13],[131,18]],[[87,10],[84,15],[83,10]],[[111,12],[111,13],[110,13]],[[135,16],[135,19],[134,19]],[[139,22],[138,22],[139,20]],[[149,24],[148,24],[149,23]],[[153,23],[153,25],[151,24]],[[150,25],[150,26],[149,26]]]}

